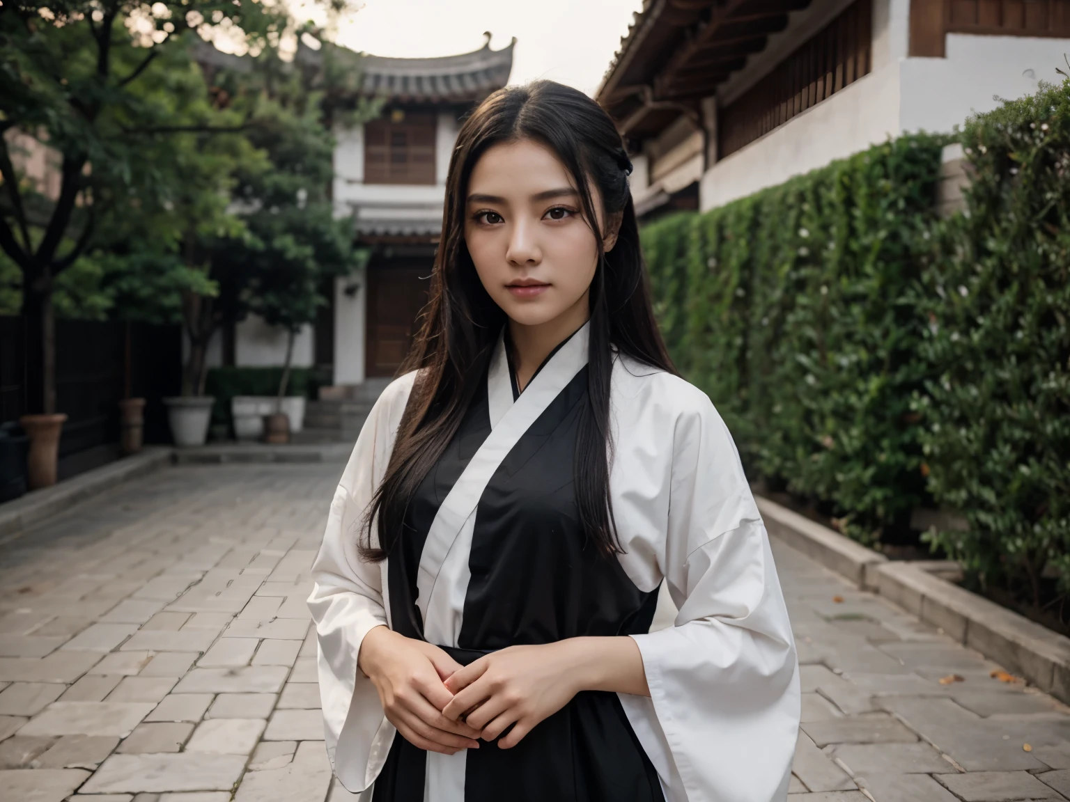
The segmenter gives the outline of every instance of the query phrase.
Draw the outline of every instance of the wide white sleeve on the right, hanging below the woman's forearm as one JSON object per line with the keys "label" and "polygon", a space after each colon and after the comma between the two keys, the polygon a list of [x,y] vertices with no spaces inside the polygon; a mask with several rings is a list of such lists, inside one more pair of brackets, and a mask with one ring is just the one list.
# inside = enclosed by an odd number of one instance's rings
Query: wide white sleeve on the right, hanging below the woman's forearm
{"label": "wide white sleeve on the right, hanging below the woman's forearm", "polygon": [[799,682],[768,536],[704,394],[674,429],[658,557],[678,615],[672,627],[633,635],[671,762],[662,778],[672,802],[782,801]]}

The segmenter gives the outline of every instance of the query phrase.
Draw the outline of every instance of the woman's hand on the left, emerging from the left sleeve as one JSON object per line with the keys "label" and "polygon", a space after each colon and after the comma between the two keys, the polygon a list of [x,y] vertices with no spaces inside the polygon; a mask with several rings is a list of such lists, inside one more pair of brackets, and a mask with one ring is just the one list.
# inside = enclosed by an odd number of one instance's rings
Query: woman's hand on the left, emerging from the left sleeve
{"label": "woman's hand on the left, emerging from the left sleeve", "polygon": [[443,680],[461,666],[438,646],[376,627],[361,643],[357,666],[379,691],[386,719],[411,744],[444,755],[479,747],[478,729],[441,712],[453,700]]}

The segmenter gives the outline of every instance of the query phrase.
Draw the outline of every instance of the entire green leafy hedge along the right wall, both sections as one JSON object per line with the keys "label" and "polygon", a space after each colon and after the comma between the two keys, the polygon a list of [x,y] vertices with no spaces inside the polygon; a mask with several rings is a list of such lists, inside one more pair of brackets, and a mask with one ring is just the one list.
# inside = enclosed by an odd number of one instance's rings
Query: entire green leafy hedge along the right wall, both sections
{"label": "entire green leafy hedge along the right wall, both sections", "polygon": [[863,542],[961,511],[932,545],[1036,600],[1045,566],[1070,577],[1070,82],[968,121],[976,179],[944,221],[948,141],[667,217],[644,252],[673,358],[753,479]]}

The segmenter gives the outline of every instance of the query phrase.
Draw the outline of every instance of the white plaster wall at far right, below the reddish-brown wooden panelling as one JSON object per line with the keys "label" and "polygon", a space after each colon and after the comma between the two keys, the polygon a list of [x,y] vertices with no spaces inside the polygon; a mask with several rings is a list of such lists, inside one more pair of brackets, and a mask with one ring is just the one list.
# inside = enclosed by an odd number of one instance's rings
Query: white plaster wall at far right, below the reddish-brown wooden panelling
{"label": "white plaster wall at far right, below the reddish-brown wooden panelling", "polygon": [[901,130],[950,132],[999,99],[1037,91],[1039,80],[1061,78],[1070,40],[951,33],[944,59],[902,62]]}

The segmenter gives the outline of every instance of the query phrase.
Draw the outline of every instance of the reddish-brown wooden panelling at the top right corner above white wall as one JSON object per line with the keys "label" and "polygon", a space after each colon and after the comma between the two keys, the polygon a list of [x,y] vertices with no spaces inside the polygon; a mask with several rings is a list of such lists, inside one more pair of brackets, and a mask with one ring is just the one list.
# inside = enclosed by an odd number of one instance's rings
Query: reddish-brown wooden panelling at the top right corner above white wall
{"label": "reddish-brown wooden panelling at the top right corner above white wall", "polygon": [[1070,38],[1070,0],[911,0],[911,56],[944,56],[948,33]]}

